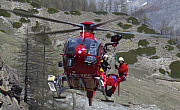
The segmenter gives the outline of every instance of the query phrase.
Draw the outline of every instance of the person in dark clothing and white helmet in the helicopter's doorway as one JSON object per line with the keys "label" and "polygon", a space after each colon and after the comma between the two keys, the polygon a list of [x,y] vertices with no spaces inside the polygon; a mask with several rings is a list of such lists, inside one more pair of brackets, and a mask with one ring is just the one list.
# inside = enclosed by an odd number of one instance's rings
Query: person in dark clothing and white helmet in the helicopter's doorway
{"label": "person in dark clothing and white helmet in the helicopter's doorway", "polygon": [[104,55],[103,60],[101,61],[101,67],[105,74],[106,74],[107,69],[111,69],[107,61],[108,61],[108,55]]}

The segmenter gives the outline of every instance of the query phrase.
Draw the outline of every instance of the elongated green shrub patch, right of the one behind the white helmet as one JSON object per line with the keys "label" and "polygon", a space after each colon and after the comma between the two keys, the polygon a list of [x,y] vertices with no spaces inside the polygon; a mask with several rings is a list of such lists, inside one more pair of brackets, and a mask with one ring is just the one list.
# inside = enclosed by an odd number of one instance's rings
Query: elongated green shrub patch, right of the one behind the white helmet
{"label": "elongated green shrub patch, right of the one behind the white helmet", "polygon": [[143,54],[145,54],[146,56],[151,56],[156,54],[156,48],[155,47],[144,47],[144,48],[138,48],[135,50],[130,50],[130,52],[142,56]]}

